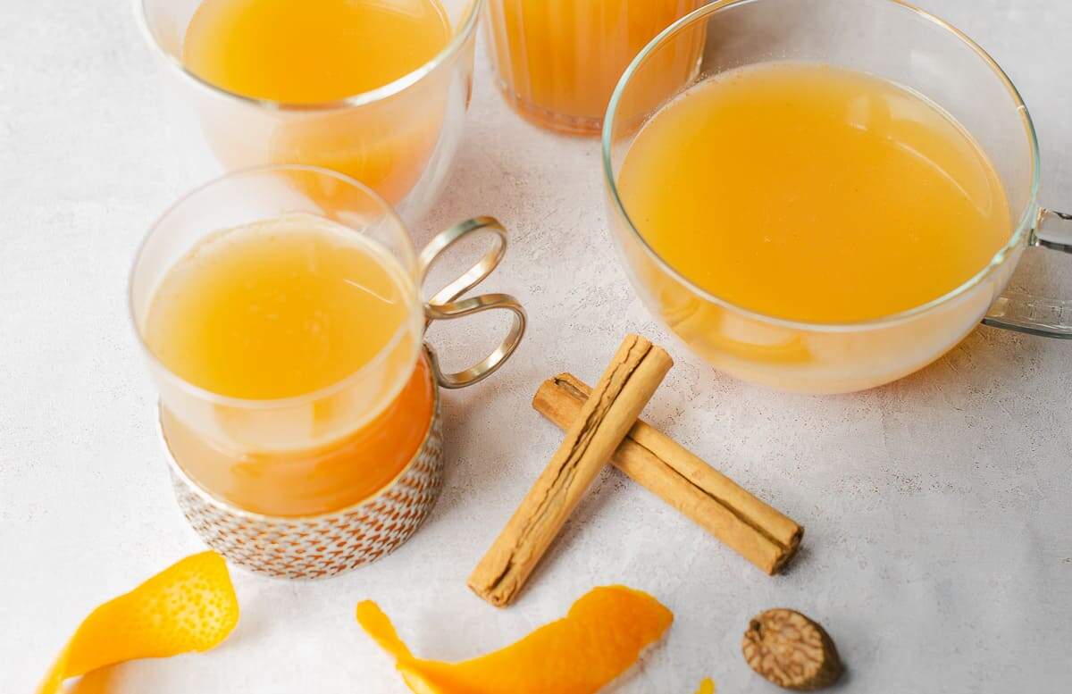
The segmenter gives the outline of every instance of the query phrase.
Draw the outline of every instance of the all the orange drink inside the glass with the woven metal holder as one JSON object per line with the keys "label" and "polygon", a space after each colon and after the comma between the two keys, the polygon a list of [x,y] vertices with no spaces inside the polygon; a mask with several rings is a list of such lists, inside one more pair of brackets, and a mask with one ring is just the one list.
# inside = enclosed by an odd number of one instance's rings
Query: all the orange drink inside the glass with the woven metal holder
{"label": "all the orange drink inside the glass with the woven metal holder", "polygon": [[432,420],[415,292],[385,248],[311,214],[209,236],[168,270],[143,325],[170,374],[217,396],[166,401],[188,407],[161,412],[176,462],[269,515],[374,494]]}

